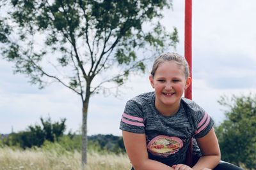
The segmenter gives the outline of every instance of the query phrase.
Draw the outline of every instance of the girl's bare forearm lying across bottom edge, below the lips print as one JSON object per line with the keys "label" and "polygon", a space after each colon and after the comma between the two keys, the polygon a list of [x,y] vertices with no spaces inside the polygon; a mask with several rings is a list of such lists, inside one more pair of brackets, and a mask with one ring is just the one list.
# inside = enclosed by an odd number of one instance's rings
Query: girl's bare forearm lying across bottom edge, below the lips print
{"label": "girl's bare forearm lying across bottom edge, below the lips print", "polygon": [[156,160],[144,160],[141,161],[140,164],[138,165],[132,165],[134,167],[135,170],[174,170],[172,167],[170,166],[166,166],[165,164],[158,162]]}

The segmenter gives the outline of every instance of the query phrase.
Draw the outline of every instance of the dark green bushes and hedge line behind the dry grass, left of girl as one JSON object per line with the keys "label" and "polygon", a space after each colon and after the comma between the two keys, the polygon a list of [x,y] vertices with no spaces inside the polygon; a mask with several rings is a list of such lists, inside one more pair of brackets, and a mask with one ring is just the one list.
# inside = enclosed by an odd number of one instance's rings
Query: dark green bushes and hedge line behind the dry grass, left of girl
{"label": "dark green bushes and hedge line behind the dry grass, left of girl", "polygon": [[[51,118],[40,118],[42,125],[30,125],[26,131],[3,134],[0,138],[0,146],[11,146],[19,148],[33,148],[49,145],[49,143],[58,143],[68,151],[77,150],[81,152],[82,136],[68,132],[66,129],[66,119],[60,122],[51,122]],[[97,134],[88,136],[88,150],[97,152],[125,152],[122,137],[112,134]]]}

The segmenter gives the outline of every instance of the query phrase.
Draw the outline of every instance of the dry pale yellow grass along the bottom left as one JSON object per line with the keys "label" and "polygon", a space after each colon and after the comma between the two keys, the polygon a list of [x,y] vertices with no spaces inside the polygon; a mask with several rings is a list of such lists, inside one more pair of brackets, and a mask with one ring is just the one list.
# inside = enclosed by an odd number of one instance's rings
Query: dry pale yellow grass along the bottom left
{"label": "dry pale yellow grass along the bottom left", "polygon": [[[80,170],[81,154],[0,148],[0,170]],[[88,153],[88,170],[131,169],[127,155]]]}

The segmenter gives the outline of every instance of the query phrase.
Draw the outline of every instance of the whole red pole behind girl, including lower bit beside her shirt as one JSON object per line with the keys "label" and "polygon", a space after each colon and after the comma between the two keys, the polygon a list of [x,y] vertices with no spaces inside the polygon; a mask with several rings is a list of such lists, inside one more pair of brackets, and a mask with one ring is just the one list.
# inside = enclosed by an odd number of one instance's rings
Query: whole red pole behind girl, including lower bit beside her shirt
{"label": "whole red pole behind girl, including lower bit beside her shirt", "polygon": [[[192,0],[185,0],[185,39],[184,39],[185,58],[189,65],[189,74],[192,78]],[[185,97],[192,99],[192,82],[185,90]],[[186,165],[193,167],[193,143],[190,139],[186,154]]]}

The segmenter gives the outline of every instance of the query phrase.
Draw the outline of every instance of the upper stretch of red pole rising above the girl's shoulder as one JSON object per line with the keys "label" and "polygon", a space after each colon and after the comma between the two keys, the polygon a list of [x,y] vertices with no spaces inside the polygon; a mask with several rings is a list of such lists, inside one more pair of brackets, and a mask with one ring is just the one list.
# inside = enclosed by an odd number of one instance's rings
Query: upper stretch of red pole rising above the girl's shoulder
{"label": "upper stretch of red pole rising above the girl's shoulder", "polygon": [[[189,65],[189,74],[192,78],[192,0],[185,0],[185,58]],[[185,90],[185,97],[192,99],[192,83]]]}

